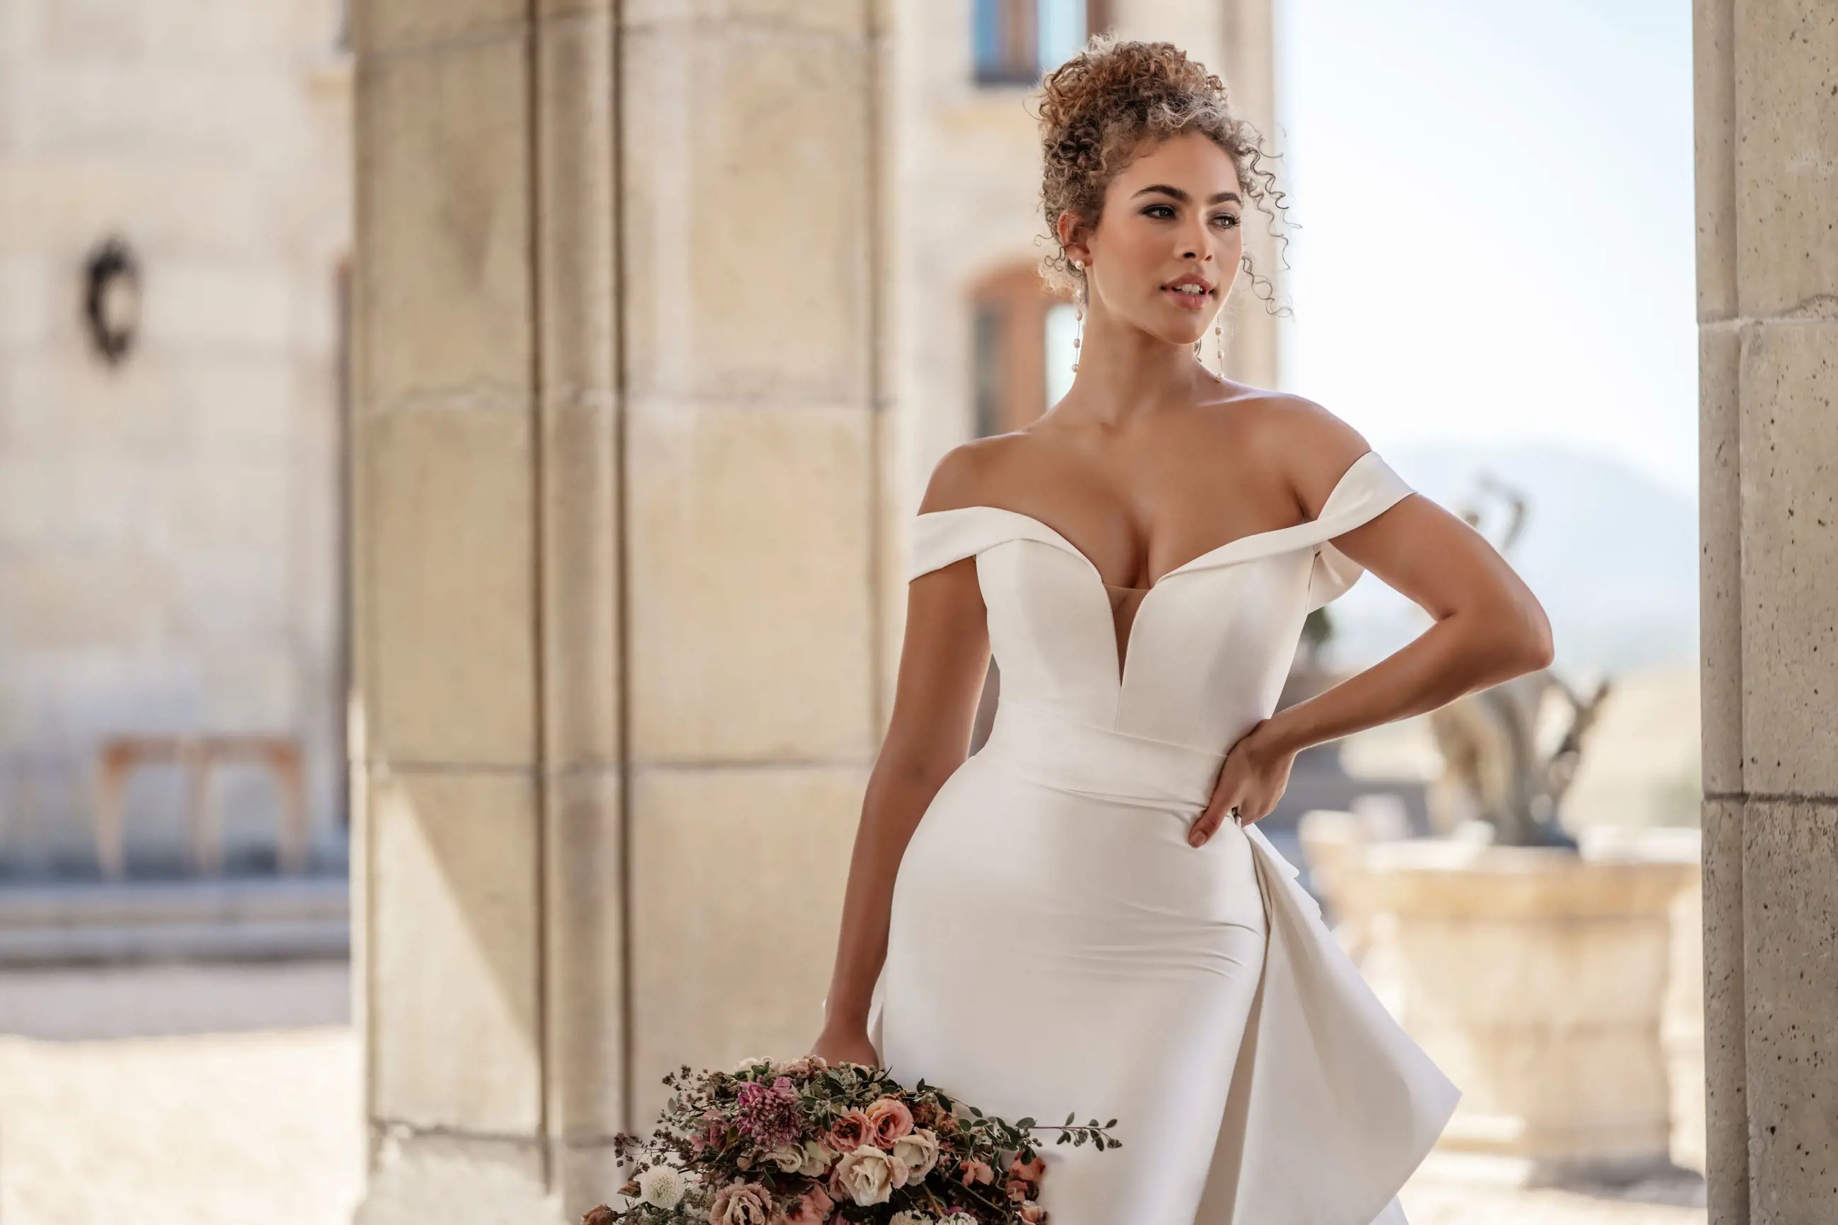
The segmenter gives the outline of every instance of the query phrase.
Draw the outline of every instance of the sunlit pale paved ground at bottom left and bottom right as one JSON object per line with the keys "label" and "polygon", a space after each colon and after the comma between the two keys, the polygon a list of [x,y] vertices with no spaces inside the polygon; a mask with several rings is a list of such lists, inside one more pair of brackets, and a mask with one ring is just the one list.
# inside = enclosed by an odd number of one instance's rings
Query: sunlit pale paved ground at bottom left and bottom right
{"label": "sunlit pale paved ground at bottom left and bottom right", "polygon": [[[344,964],[0,973],[0,1225],[346,1225]],[[1680,1175],[1595,1194],[1419,1177],[1412,1225],[1702,1225]]]}

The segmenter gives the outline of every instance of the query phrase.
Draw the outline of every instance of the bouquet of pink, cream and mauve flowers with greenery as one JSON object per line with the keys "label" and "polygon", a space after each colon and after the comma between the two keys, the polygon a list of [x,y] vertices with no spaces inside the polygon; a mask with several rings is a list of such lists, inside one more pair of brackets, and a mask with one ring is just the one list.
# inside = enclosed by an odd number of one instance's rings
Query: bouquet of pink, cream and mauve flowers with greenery
{"label": "bouquet of pink, cream and mauve flowers with greenery", "polygon": [[908,1089],[884,1067],[818,1056],[746,1060],[732,1073],[680,1071],[649,1141],[614,1137],[638,1163],[621,1208],[583,1225],[1038,1225],[1046,1163],[1033,1131],[1059,1144],[1121,1148],[1099,1126],[1005,1122],[925,1080]]}

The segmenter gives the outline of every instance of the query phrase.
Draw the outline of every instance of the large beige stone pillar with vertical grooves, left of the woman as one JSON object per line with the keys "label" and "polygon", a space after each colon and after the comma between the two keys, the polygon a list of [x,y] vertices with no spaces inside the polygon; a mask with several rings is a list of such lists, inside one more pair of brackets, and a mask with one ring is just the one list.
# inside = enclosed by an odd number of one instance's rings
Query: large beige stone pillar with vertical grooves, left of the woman
{"label": "large beige stone pillar with vertical grooves, left of the woman", "polygon": [[562,1221],[816,1034],[891,669],[873,0],[369,0],[366,1223]]}

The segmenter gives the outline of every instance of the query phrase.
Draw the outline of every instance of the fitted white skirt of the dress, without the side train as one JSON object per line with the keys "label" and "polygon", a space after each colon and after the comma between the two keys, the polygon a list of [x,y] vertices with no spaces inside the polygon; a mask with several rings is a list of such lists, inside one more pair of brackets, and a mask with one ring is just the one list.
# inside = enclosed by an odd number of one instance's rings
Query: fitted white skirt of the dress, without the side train
{"label": "fitted white skirt of the dress, without the side train", "polygon": [[882,1063],[1011,1122],[1118,1120],[1121,1148],[1037,1133],[1049,1225],[1195,1221],[1266,946],[1250,839],[1189,845],[1200,808],[985,747],[901,860]]}

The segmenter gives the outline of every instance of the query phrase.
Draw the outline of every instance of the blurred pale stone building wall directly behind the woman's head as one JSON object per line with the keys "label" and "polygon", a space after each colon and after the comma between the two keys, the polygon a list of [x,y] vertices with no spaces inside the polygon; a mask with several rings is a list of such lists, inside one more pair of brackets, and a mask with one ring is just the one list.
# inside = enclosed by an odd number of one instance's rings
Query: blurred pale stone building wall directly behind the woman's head
{"label": "blurred pale stone building wall directly behind the woman's head", "polygon": [[[893,259],[901,279],[897,345],[910,428],[906,500],[948,448],[970,437],[970,292],[985,275],[1035,264],[1046,246],[1040,215],[1040,132],[1031,86],[978,84],[970,4],[901,4],[899,134]],[[1239,114],[1272,132],[1274,61],[1268,0],[1112,0],[1127,39],[1163,39],[1226,79]],[[1279,149],[1272,132],[1270,149]],[[1285,174],[1281,162],[1277,174]],[[1287,187],[1287,178],[1283,180]],[[1037,241],[1038,237],[1038,241]],[[1263,213],[1246,211],[1246,250],[1283,292]],[[1233,290],[1226,362],[1235,378],[1277,384],[1277,336],[1250,279]],[[1272,292],[1272,290],[1261,290]],[[1211,338],[1206,343],[1211,358]]]}

